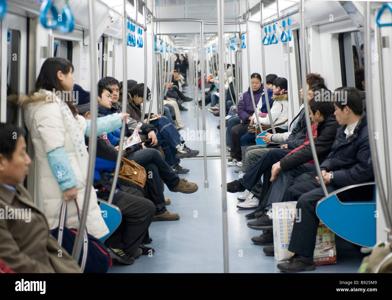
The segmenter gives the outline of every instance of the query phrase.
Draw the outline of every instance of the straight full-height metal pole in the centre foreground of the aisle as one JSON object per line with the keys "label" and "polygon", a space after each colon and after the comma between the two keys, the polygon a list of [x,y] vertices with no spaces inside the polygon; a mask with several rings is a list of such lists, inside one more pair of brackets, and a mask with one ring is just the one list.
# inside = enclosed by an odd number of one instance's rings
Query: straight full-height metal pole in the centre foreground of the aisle
{"label": "straight full-height metal pole in the centre foreground of the aisle", "polygon": [[[219,46],[219,82],[222,85],[224,82],[224,65],[223,65],[223,51],[225,38],[223,33],[223,22],[224,18],[224,9],[223,9],[223,0],[218,1],[218,46]],[[225,93],[219,93],[219,103],[220,107],[225,107]],[[225,273],[229,273],[229,231],[227,228],[227,185],[226,185],[226,134],[225,134],[225,115],[223,113],[220,114],[220,135],[221,135],[221,178],[222,178],[222,227],[223,227],[223,271]]]}

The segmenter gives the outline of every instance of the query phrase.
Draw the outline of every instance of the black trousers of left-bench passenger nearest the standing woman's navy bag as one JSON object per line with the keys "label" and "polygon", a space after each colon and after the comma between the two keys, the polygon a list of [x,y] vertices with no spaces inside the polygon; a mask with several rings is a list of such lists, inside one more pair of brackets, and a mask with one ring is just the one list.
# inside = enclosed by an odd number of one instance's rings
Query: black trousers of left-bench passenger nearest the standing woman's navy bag
{"label": "black trousers of left-bench passenger nearest the standing woman's navy bag", "polygon": [[[116,206],[122,213],[122,222],[105,240],[105,245],[122,249],[124,253],[133,255],[142,244],[145,235],[148,235],[148,227],[155,213],[155,205],[148,199],[136,196],[137,192],[127,193],[127,187],[122,186],[122,189],[123,191],[118,191],[113,197],[113,200],[116,198]],[[109,194],[107,195],[109,198]],[[107,200],[105,196],[100,198]]]}

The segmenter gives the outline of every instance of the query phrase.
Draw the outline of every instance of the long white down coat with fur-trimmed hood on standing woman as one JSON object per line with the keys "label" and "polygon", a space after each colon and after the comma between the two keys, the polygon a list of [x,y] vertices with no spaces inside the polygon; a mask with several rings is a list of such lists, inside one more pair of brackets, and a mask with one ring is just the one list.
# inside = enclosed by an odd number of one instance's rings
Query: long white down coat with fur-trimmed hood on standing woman
{"label": "long white down coat with fur-trimmed hood on standing woman", "polygon": [[[54,98],[55,96],[53,94],[52,99]],[[60,208],[64,201],[64,194],[60,190],[56,177],[53,175],[47,159],[47,153],[58,147],[65,147],[78,182],[76,190],[80,211],[83,208],[87,178],[83,176],[81,166],[78,164],[71,133],[69,132],[60,106],[56,102],[46,101],[46,91],[41,90],[40,93],[35,93],[31,97],[22,99],[22,108],[24,109],[25,124],[34,144],[35,160],[38,164],[39,173],[38,181],[42,201],[45,206],[45,216],[49,228],[54,229],[58,227]],[[78,115],[76,117],[76,122],[82,129],[83,134],[85,134],[87,127],[86,120]],[[87,174],[87,172],[85,172],[85,174]],[[102,238],[109,233],[109,229],[102,218],[101,209],[97,203],[94,188],[91,188],[89,211],[86,220],[87,232],[96,238]],[[79,228],[78,213],[74,201],[67,201],[67,219],[65,226],[67,228]]]}

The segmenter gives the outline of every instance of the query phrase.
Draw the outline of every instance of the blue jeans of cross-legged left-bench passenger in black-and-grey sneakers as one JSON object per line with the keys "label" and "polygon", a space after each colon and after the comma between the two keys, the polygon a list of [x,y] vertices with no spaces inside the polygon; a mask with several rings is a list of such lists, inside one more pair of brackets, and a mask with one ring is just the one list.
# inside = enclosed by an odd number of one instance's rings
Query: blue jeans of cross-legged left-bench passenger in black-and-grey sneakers
{"label": "blue jeans of cross-legged left-bench passenger in black-and-grey sneakers", "polygon": [[178,164],[180,160],[176,158],[176,145],[184,142],[180,133],[170,124],[167,118],[152,120],[150,124],[158,128],[156,133],[157,146],[162,147],[163,153],[165,153],[165,162],[171,166]]}

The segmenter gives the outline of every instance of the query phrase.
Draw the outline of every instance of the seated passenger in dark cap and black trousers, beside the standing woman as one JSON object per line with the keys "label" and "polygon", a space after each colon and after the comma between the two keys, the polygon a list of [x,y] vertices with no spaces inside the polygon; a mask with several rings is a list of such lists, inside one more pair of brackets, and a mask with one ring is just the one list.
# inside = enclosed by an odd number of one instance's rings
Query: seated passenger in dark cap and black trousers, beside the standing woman
{"label": "seated passenger in dark cap and black trousers, beside the standing woman", "polygon": [[[102,88],[98,89],[98,96],[102,98],[104,92],[105,90]],[[107,98],[110,99],[110,95]],[[90,93],[80,92],[78,100],[78,105],[75,107],[78,109],[79,115],[90,120]],[[85,138],[85,142],[88,145],[89,138]],[[103,136],[98,138],[94,188],[98,190],[97,196],[102,200],[109,199],[113,182],[113,176],[109,174],[116,167],[117,153],[118,151]],[[105,245],[109,247],[109,253],[114,260],[122,264],[133,264],[135,258],[142,254],[148,254],[149,250],[153,251],[152,248],[143,245],[142,240],[154,217],[155,207],[150,200],[144,198],[138,189],[124,186],[120,180],[118,180],[117,187],[118,191],[114,193],[112,203],[122,213],[122,224],[105,240]],[[136,185],[136,187],[140,186]]]}

